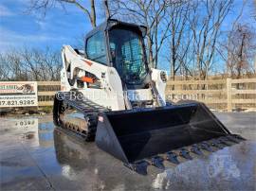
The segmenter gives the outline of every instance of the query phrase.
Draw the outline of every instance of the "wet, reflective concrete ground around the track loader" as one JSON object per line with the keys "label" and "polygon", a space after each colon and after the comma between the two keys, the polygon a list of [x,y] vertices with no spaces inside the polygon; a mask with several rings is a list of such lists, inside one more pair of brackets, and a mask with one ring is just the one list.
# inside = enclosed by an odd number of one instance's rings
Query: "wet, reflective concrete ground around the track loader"
{"label": "wet, reflective concrete ground around the track loader", "polygon": [[[51,116],[0,118],[1,190],[256,190],[256,113],[216,113],[247,141],[138,175]],[[182,160],[182,159],[179,159]]]}

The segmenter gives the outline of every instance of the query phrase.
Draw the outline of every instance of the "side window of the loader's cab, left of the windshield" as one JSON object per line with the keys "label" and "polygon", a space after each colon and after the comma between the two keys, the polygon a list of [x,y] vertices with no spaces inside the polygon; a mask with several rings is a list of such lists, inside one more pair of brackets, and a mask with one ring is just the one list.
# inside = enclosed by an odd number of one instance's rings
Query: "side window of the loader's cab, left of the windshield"
{"label": "side window of the loader's cab, left of the windshield", "polygon": [[106,64],[106,46],[102,31],[87,39],[86,54],[88,59]]}

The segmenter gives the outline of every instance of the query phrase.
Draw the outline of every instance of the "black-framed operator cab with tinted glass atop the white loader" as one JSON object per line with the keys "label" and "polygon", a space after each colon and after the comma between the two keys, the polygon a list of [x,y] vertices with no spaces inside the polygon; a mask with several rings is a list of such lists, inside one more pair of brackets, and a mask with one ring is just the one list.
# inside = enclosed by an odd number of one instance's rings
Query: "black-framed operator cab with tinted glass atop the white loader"
{"label": "black-framed operator cab with tinted glass atop the white loader", "polygon": [[86,36],[85,56],[113,66],[128,89],[148,88],[149,68],[143,38],[145,26],[107,20]]}

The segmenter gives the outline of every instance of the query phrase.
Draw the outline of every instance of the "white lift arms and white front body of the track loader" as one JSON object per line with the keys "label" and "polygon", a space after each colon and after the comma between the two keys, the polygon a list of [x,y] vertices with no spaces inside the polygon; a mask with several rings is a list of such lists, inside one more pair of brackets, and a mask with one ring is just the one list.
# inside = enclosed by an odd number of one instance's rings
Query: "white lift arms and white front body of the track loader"
{"label": "white lift arms and white front body of the track loader", "polygon": [[[153,88],[124,90],[119,73],[116,68],[103,65],[96,61],[84,58],[81,52],[75,51],[70,45],[64,45],[62,49],[63,69],[61,71],[61,90],[69,92],[78,90],[84,98],[104,106],[112,111],[130,109],[128,102],[149,101],[146,107],[165,106],[165,87],[167,74],[165,71],[151,69],[151,78],[155,83],[157,96],[155,97]],[[87,82],[78,83],[70,79],[82,78],[90,74],[97,78],[97,86],[88,85]],[[161,76],[164,76],[161,77]],[[160,100],[157,103],[157,99]]]}

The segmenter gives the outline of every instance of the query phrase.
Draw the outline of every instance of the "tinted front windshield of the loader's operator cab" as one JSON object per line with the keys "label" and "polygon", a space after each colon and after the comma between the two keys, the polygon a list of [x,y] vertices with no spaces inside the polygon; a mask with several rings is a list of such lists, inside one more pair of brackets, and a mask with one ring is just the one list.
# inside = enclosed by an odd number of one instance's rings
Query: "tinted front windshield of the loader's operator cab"
{"label": "tinted front windshield of the loader's operator cab", "polygon": [[147,75],[141,37],[131,30],[112,29],[109,31],[109,44],[120,78],[126,83],[141,83]]}

